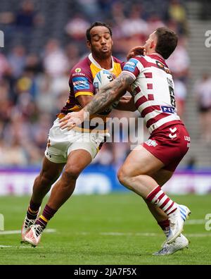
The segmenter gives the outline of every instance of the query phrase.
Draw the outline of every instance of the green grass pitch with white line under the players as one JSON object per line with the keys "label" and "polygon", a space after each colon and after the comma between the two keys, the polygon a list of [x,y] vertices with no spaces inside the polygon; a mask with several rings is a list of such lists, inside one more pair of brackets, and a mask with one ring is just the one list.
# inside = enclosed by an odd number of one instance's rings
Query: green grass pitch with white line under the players
{"label": "green grass pitch with white line under the players", "polygon": [[[44,233],[39,247],[20,244],[20,234],[0,232],[0,265],[211,264],[211,230],[205,230],[203,222],[211,213],[211,196],[172,198],[192,211],[192,223],[184,228],[191,243],[183,251],[152,255],[165,237],[136,194],[82,195],[73,196],[58,211],[48,225],[56,231]],[[28,202],[29,197],[0,197],[5,231],[20,230]]]}

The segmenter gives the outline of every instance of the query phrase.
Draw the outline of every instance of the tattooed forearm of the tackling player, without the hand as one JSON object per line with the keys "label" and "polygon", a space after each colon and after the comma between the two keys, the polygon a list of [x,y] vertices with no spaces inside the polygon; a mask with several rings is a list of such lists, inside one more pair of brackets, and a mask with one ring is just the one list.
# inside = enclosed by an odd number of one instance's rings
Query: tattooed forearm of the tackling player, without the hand
{"label": "tattooed forearm of the tackling player, without the hand", "polygon": [[94,114],[99,110],[106,109],[117,97],[124,95],[125,90],[134,82],[134,79],[125,73],[121,73],[113,82],[102,87],[98,94],[84,107],[84,111]]}

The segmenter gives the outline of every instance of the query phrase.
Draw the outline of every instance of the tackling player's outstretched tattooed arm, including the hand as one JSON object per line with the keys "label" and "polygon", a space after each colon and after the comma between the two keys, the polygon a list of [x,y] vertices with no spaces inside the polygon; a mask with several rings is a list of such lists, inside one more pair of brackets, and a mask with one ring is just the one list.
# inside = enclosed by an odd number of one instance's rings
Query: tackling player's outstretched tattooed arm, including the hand
{"label": "tackling player's outstretched tattooed arm, including the hand", "polygon": [[67,116],[60,119],[60,128],[68,128],[68,130],[70,130],[76,125],[80,125],[89,115],[105,109],[112,104],[115,99],[124,95],[127,87],[131,85],[132,82],[134,82],[134,79],[130,75],[121,73],[113,82],[109,82],[108,85],[102,87],[84,109],[77,113],[68,113]]}

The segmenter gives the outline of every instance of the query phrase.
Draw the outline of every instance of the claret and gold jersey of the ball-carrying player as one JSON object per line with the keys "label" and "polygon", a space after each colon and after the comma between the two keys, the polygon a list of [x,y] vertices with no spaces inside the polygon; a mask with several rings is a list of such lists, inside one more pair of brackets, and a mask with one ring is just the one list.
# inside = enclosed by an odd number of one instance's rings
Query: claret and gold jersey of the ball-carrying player
{"label": "claret and gold jersey of the ball-carrying player", "polygon": [[[112,68],[109,70],[116,77],[122,72],[124,63],[119,59],[112,56]],[[94,60],[92,54],[89,54],[82,61],[79,61],[72,70],[70,71],[70,95],[67,103],[61,110],[61,113],[70,113],[71,111],[79,111],[82,107],[77,101],[78,96],[94,96],[96,94],[95,87],[93,85],[93,80],[96,74],[102,70],[101,66]],[[108,113],[99,113],[91,118],[97,117],[102,118],[103,122],[106,123],[106,116]],[[104,125],[105,126],[105,125]],[[90,126],[90,130],[93,130],[95,127]],[[98,125],[99,130],[100,125]]]}

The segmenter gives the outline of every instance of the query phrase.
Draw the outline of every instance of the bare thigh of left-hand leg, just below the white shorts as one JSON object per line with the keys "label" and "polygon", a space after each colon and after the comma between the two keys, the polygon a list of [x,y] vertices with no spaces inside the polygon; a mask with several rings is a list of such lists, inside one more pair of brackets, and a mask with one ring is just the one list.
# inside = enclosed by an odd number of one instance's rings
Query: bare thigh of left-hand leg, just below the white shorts
{"label": "bare thigh of left-hand leg, just below the white shorts", "polygon": [[64,166],[65,163],[53,163],[44,156],[40,175],[47,180],[56,181]]}

